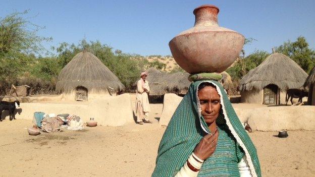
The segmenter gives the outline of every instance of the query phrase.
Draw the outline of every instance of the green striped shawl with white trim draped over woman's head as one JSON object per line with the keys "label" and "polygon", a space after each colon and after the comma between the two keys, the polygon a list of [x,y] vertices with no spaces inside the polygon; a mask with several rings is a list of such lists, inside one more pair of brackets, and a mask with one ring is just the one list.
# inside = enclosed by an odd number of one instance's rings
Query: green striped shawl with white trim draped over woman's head
{"label": "green striped shawl with white trim draped over woman's head", "polygon": [[224,123],[228,126],[246,155],[252,176],[260,177],[256,148],[239,121],[224,88],[214,80],[196,81],[190,85],[188,93],[178,105],[162,137],[152,176],[175,176],[204,134],[210,133],[201,115],[197,96],[198,86],[202,82],[210,82],[217,87],[222,107],[217,123]]}

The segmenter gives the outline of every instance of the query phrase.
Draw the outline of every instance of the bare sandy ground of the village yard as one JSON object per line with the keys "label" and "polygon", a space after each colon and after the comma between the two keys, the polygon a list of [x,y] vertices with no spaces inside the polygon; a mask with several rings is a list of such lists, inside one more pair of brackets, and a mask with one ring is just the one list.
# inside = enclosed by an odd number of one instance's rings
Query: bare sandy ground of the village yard
{"label": "bare sandy ground of the village yard", "polygon": [[[162,107],[151,104],[153,124],[62,129],[38,136],[27,134],[30,120],[4,120],[0,123],[0,176],[150,176],[165,131],[158,125]],[[288,138],[277,134],[249,133],[263,176],[315,176],[315,131],[288,131]]]}

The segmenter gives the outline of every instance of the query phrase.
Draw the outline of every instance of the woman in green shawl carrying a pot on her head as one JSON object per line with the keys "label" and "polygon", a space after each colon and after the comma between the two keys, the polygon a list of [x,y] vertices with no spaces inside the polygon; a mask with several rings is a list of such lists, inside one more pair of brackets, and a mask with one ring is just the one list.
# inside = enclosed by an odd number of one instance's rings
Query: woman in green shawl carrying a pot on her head
{"label": "woman in green shawl carrying a pot on her head", "polygon": [[190,85],[161,140],[152,176],[261,176],[256,149],[220,83]]}

